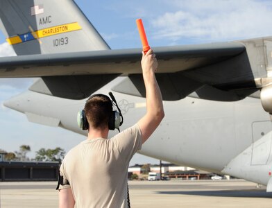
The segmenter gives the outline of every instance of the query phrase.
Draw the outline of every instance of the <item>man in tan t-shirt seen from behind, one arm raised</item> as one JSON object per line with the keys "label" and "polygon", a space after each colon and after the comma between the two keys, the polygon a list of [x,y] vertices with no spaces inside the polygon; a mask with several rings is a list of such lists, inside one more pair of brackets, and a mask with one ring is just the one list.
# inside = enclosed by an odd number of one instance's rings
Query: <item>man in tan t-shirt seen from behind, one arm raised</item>
{"label": "man in tan t-shirt seen from behind, one arm raised", "polygon": [[[158,62],[152,50],[142,52],[146,114],[133,127],[108,138],[112,108],[106,96],[88,99],[88,137],[72,148],[60,166],[59,207],[127,207],[127,171],[164,117],[162,95],[155,78]],[[111,104],[110,104],[111,105]]]}

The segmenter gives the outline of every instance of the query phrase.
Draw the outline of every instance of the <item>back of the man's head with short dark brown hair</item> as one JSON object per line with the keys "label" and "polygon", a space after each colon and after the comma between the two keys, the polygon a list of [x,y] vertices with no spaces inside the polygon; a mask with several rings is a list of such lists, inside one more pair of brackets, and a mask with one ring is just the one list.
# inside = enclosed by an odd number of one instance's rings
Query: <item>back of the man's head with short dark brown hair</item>
{"label": "back of the man's head with short dark brown hair", "polygon": [[85,114],[89,128],[107,128],[112,114],[112,101],[108,96],[98,94],[92,96],[85,104]]}

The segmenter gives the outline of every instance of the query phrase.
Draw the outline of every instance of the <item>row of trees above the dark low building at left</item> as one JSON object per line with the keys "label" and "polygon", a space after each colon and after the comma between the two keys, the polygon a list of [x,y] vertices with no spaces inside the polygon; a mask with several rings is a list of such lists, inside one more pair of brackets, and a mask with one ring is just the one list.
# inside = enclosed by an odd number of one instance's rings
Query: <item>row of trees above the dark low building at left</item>
{"label": "row of trees above the dark low building at left", "polygon": [[40,161],[40,162],[62,162],[65,157],[65,150],[56,147],[54,149],[40,148],[35,152],[35,158],[28,158],[26,154],[31,151],[28,145],[19,147],[19,151],[7,153],[5,150],[0,149],[1,153],[5,153],[6,161]]}

